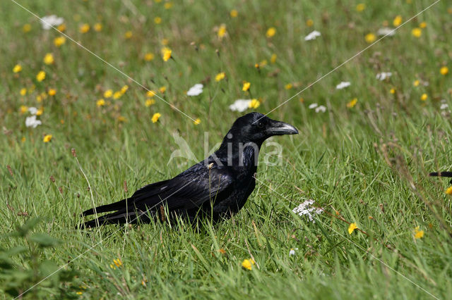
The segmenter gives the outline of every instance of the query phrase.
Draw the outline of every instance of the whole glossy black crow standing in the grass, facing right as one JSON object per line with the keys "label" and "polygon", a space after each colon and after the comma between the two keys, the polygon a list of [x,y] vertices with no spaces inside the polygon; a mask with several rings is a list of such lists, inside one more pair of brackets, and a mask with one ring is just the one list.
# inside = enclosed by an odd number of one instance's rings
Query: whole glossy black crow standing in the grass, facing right
{"label": "whole glossy black crow standing in the grass, facing right", "polygon": [[254,190],[263,142],[273,135],[297,133],[290,124],[261,113],[248,113],[234,122],[220,148],[208,158],[172,179],[138,189],[128,199],[84,211],[83,215],[114,211],[84,225],[149,223],[153,218],[164,221],[176,216],[191,222],[198,218],[213,222],[230,218]]}

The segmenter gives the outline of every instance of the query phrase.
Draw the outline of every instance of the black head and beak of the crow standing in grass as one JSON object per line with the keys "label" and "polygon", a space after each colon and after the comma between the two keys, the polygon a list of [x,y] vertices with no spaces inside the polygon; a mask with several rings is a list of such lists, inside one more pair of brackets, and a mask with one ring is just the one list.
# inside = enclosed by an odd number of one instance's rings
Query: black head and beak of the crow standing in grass
{"label": "black head and beak of the crow standing in grass", "polygon": [[262,144],[273,135],[296,135],[298,130],[290,124],[272,120],[262,113],[247,113],[235,120],[228,132],[229,138],[240,139],[240,142]]}

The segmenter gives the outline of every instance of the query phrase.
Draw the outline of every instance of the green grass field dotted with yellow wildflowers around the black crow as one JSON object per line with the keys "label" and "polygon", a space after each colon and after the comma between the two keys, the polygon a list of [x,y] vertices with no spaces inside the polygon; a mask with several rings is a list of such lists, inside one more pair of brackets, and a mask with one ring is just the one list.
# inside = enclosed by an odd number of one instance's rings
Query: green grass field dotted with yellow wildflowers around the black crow
{"label": "green grass field dotted with yellow wildflowers around the black crow", "polygon": [[[204,132],[213,149],[237,117],[268,113],[434,0],[17,1],[64,18],[59,28],[93,53],[1,1],[1,299],[451,295],[448,181],[427,177],[452,169],[450,2],[270,113],[300,133],[272,139],[283,146],[279,165],[262,163],[273,149],[263,146],[256,189],[232,220],[87,232],[75,229],[83,210],[194,163],[168,164],[175,131],[201,160]],[[305,41],[313,30],[321,36]],[[196,83],[203,93],[187,96]],[[236,99],[260,105],[230,111]],[[35,128],[25,126],[29,107],[38,108]],[[325,211],[315,223],[292,213],[306,199]],[[349,234],[349,223],[362,231]],[[250,258],[255,265],[242,268]]]}

